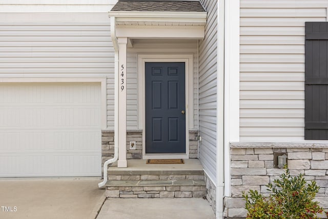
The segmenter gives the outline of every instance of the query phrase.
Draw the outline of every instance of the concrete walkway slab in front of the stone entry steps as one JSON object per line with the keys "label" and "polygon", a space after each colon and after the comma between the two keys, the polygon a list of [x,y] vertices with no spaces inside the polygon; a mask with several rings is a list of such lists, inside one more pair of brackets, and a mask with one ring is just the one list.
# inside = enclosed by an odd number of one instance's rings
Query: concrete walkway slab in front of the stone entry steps
{"label": "concrete walkway slab in front of the stone entry steps", "polygon": [[97,219],[188,218],[212,219],[214,212],[202,198],[109,198]]}

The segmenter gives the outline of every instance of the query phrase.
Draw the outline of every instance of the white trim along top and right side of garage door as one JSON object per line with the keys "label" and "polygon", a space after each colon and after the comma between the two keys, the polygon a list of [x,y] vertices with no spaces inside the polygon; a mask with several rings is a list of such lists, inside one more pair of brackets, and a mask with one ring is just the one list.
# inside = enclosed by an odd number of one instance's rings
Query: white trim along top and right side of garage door
{"label": "white trim along top and right side of garage door", "polygon": [[107,128],[107,78],[106,77],[1,77],[0,83],[100,83],[101,129]]}

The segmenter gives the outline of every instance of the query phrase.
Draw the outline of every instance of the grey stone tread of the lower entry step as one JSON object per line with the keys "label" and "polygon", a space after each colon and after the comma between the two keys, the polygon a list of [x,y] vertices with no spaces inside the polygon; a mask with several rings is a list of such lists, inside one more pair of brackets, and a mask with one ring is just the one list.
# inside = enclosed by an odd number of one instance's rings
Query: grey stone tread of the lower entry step
{"label": "grey stone tread of the lower entry step", "polygon": [[203,180],[126,180],[126,181],[107,181],[106,186],[206,186]]}

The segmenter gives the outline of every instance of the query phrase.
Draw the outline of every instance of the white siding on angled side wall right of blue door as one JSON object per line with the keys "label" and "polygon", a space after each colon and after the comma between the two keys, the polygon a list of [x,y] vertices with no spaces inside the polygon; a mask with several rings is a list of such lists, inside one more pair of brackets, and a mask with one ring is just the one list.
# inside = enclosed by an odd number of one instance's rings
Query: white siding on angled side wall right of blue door
{"label": "white siding on angled side wall right of blue door", "polygon": [[200,1],[208,12],[205,38],[199,43],[199,158],[205,171],[216,180],[216,74],[217,1]]}

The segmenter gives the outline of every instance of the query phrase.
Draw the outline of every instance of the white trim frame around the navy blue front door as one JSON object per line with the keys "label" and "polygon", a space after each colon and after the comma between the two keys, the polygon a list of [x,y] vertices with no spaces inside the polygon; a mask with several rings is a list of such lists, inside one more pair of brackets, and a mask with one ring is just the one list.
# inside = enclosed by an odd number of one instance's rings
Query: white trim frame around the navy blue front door
{"label": "white trim frame around the navy blue front door", "polygon": [[[193,122],[193,54],[138,54],[138,128],[142,129],[142,158],[189,158],[189,128]],[[145,63],[146,62],[184,62],[186,63],[186,153],[146,154],[146,111],[145,111]]]}

